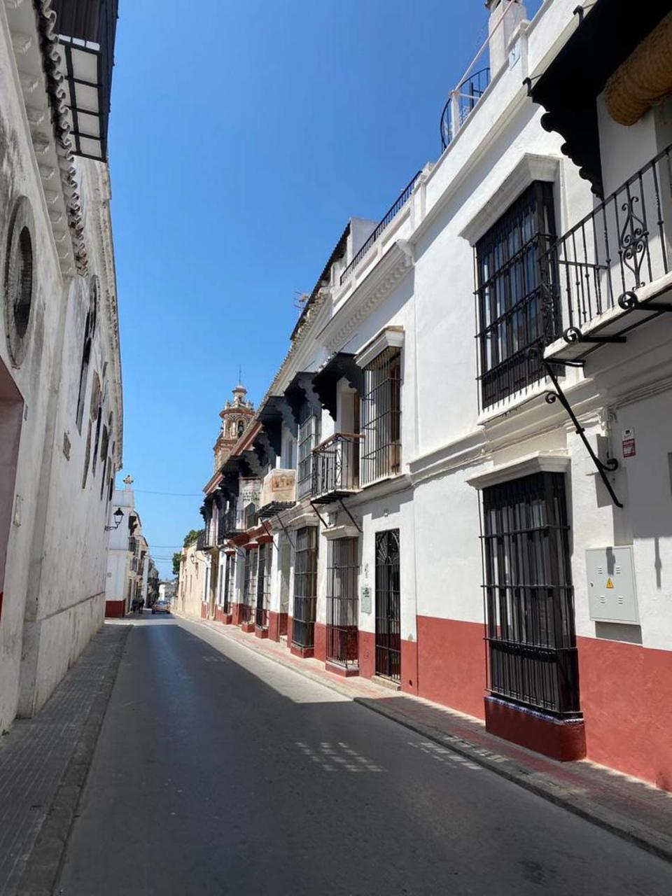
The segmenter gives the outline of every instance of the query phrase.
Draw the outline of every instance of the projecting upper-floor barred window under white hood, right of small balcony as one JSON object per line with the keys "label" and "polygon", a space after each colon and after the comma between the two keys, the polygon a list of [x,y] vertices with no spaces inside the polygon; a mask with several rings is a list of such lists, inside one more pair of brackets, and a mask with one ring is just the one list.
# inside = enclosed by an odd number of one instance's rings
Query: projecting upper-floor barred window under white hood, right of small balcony
{"label": "projecting upper-floor barred window under white hood, right of small balcony", "polygon": [[401,470],[401,350],[384,349],[364,368],[362,486]]}

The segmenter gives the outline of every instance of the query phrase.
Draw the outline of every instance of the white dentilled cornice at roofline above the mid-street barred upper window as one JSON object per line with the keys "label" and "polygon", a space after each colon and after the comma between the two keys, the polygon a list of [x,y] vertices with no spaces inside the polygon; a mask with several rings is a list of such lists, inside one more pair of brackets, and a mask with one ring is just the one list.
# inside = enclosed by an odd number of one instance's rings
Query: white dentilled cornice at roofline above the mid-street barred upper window
{"label": "white dentilled cornice at roofline above the mid-street barred upper window", "polygon": [[398,239],[323,327],[319,335],[330,352],[347,345],[360,323],[397,289],[413,264],[411,246]]}

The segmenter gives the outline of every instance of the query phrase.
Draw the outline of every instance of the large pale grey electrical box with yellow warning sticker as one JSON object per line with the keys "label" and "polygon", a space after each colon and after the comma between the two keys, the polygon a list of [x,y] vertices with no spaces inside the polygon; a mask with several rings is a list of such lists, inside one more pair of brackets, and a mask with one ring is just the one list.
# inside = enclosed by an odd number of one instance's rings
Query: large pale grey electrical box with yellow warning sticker
{"label": "large pale grey electrical box with yellow warning sticker", "polygon": [[586,572],[591,619],[639,623],[632,547],[590,547]]}

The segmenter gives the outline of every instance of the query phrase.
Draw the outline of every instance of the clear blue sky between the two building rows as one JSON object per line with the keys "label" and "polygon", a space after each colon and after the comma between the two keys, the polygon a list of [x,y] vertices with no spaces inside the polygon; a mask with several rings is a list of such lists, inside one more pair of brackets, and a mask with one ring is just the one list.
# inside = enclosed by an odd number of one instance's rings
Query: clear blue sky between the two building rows
{"label": "clear blue sky between the two building rows", "polygon": [[438,157],[445,99],[486,35],[482,0],[120,0],[116,481],[133,475],[155,557],[200,527],[202,501],[148,493],[202,492],[238,365],[256,405],[297,294],[351,215],[380,218]]}

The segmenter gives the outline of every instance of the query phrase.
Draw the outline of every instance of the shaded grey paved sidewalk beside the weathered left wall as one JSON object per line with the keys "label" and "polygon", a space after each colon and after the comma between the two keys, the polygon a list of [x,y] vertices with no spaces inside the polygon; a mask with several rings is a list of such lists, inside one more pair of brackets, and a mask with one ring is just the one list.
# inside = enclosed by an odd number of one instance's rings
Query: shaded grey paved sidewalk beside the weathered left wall
{"label": "shaded grey paved sidewalk beside the weathered left wall", "polygon": [[0,738],[0,896],[52,892],[130,625],[103,625],[32,719]]}

